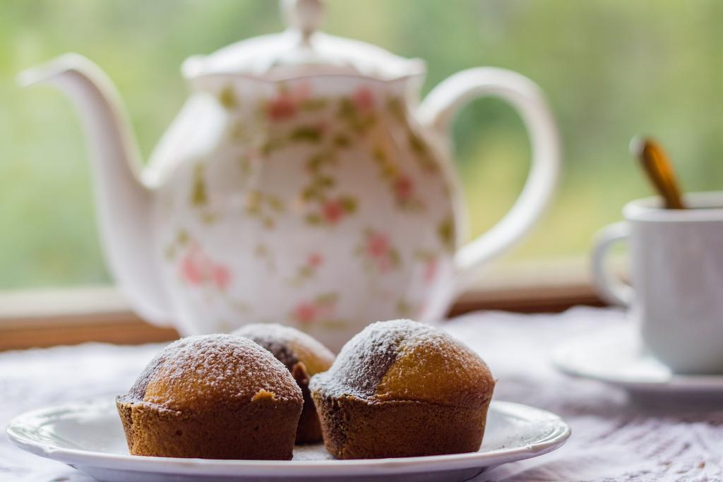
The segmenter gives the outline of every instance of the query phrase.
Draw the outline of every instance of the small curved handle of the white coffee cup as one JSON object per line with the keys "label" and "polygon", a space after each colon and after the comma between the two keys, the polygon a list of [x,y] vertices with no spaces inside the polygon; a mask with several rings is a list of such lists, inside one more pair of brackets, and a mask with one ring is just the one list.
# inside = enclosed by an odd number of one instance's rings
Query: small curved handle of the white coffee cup
{"label": "small curved handle of the white coffee cup", "polygon": [[595,238],[592,250],[592,280],[597,292],[609,304],[630,306],[633,301],[633,288],[610,272],[605,261],[613,244],[626,241],[630,236],[630,227],[624,221],[604,228]]}

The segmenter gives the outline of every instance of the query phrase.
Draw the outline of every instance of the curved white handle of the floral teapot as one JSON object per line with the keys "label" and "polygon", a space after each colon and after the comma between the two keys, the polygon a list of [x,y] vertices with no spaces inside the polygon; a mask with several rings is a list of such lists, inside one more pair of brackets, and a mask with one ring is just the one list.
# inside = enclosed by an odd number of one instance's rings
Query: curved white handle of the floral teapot
{"label": "curved white handle of the floral teapot", "polygon": [[457,111],[484,95],[507,100],[519,113],[530,136],[532,160],[525,186],[510,211],[455,254],[457,293],[474,280],[474,272],[529,231],[552,199],[560,173],[560,140],[552,113],[539,87],[516,72],[493,67],[458,72],[429,92],[417,119],[442,139]]}

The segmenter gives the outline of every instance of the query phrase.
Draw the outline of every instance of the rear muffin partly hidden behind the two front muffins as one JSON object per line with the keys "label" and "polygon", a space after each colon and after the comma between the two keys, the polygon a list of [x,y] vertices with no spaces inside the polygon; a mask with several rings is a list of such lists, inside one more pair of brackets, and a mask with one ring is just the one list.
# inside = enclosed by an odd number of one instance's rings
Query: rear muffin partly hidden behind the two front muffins
{"label": "rear muffin partly hidden behind the two front muffins", "polygon": [[319,442],[322,439],[319,416],[309,393],[309,379],[327,371],[334,361],[334,354],[315,338],[296,328],[274,323],[247,324],[233,332],[247,337],[269,350],[286,365],[304,395],[304,408],[296,431],[296,443]]}

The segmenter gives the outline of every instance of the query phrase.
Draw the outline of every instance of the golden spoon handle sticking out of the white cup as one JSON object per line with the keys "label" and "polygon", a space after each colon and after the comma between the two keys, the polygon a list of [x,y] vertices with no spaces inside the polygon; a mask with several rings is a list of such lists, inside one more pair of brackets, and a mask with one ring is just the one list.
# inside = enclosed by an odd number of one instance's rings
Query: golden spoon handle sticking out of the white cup
{"label": "golden spoon handle sticking out of the white cup", "polygon": [[634,137],[630,152],[640,160],[643,171],[664,199],[665,209],[685,209],[675,171],[663,148],[650,137]]}

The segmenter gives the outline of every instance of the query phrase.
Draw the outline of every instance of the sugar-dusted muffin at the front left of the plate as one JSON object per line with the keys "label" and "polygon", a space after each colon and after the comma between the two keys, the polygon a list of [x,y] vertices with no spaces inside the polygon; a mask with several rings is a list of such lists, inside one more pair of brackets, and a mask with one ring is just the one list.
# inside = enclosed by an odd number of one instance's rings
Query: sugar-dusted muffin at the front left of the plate
{"label": "sugar-dusted muffin at the front left of the plate", "polygon": [[133,455],[291,459],[301,390],[283,363],[247,338],[182,338],[116,398]]}

